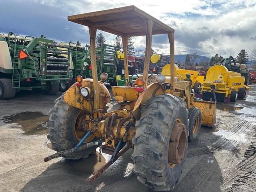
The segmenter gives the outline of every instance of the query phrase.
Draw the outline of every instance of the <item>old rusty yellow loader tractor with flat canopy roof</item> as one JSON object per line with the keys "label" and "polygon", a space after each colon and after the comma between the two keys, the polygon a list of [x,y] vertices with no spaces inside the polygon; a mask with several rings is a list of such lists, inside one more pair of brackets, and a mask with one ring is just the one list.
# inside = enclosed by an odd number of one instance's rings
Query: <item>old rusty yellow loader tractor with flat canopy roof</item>
{"label": "old rusty yellow loader tractor with flat canopy roof", "polygon": [[[202,122],[210,126],[215,122],[215,103],[194,102],[190,82],[176,82],[174,70],[170,71],[169,80],[162,74],[153,78],[149,72],[153,34],[168,34],[174,68],[174,29],[135,6],[68,16],[68,20],[89,27],[93,79],[78,76],[77,82],[56,99],[50,110],[48,139],[57,153],[44,161],[60,156],[87,158],[100,147],[99,161],[102,152],[112,156],[88,178],[88,182],[92,182],[133,148],[132,160],[138,180],[157,191],[173,189],[182,172],[188,139],[196,138]],[[97,29],[121,36],[124,46],[126,86],[112,86],[120,107],[108,112],[110,93],[103,84],[108,75],[102,73],[101,79],[97,79]],[[144,35],[143,77],[129,82],[128,37]],[[203,114],[209,112],[208,119],[202,119],[201,110]]]}

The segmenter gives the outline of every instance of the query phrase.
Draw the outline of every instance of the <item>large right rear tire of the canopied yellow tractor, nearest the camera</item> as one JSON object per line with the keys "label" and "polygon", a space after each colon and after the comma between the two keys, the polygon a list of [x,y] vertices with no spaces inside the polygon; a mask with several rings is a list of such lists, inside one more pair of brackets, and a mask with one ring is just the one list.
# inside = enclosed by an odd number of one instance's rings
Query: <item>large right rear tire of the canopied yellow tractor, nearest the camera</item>
{"label": "large right rear tire of the canopied yellow tractor, nearest the camera", "polygon": [[[181,134],[179,140],[180,144],[184,144],[180,148],[184,156],[179,164],[173,164],[169,159],[172,149],[169,145],[175,143],[170,137],[177,121],[184,126],[183,133],[186,133],[185,136]],[[156,191],[174,188],[184,164],[187,128],[188,110],[186,103],[178,96],[158,95],[148,100],[146,106],[142,106],[141,118],[136,122],[136,136],[132,140],[134,172],[140,182]]]}

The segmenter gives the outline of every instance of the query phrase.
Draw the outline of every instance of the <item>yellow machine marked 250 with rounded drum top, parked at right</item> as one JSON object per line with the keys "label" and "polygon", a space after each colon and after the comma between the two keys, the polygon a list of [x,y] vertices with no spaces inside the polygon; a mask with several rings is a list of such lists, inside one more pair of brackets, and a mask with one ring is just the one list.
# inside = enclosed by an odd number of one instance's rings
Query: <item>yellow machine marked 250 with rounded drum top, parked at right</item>
{"label": "yellow machine marked 250 with rounded drum top, parked at right", "polygon": [[244,81],[240,73],[229,71],[223,65],[214,65],[207,71],[206,79],[194,90],[200,90],[196,97],[203,100],[236,102],[237,96],[245,98],[246,91],[250,90]]}

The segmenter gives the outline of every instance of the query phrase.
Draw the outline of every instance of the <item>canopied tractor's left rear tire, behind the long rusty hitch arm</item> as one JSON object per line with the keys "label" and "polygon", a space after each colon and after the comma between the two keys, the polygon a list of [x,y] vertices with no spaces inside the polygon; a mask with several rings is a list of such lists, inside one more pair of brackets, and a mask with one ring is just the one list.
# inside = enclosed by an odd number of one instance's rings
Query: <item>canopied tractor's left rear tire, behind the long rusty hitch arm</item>
{"label": "canopied tractor's left rear tire, behind the long rusty hitch arm", "polygon": [[[76,136],[76,120],[82,110],[68,105],[64,101],[64,95],[55,100],[54,107],[50,110],[50,118],[47,122],[47,138],[52,143],[53,150],[59,152],[73,148],[80,140]],[[81,134],[81,133],[80,133]],[[86,132],[84,132],[86,134]],[[81,136],[82,137],[82,136]],[[64,156],[67,159],[87,158],[96,152],[98,146],[77,151],[73,154]]]}

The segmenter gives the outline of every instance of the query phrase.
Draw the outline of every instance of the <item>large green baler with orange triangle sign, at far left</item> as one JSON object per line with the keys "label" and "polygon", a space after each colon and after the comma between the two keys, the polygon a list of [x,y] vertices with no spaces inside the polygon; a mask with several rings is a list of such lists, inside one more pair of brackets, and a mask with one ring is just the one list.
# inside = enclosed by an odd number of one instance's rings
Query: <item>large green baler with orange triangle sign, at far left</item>
{"label": "large green baler with orange triangle sign, at far left", "polygon": [[[66,51],[58,48],[66,48]],[[0,99],[12,98],[17,91],[28,88],[56,94],[60,80],[72,78],[69,65],[68,46],[54,44],[43,36],[21,37],[13,32],[1,35]]]}

